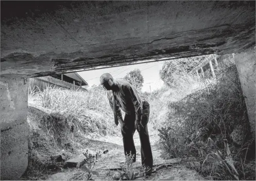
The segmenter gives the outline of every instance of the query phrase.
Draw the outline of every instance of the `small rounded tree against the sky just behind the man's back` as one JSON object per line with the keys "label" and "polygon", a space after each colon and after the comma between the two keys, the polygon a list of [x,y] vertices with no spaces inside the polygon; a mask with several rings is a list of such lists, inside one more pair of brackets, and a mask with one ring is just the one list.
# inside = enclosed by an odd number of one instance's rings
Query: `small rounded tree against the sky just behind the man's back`
{"label": "small rounded tree against the sky just behind the man's back", "polygon": [[130,82],[138,90],[141,90],[144,83],[144,78],[140,69],[134,69],[130,71],[125,75],[124,79]]}

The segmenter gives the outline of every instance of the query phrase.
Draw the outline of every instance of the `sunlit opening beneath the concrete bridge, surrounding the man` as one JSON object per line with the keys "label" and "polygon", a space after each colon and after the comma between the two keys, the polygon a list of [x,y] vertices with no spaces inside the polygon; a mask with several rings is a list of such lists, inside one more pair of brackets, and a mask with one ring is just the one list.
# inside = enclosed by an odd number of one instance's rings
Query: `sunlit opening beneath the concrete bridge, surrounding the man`
{"label": "sunlit opening beneath the concrete bridge, surrounding the man", "polygon": [[[150,105],[147,128],[153,170],[149,177],[141,170],[138,131],[133,135],[136,162],[124,154],[121,124],[115,125],[107,91],[100,86],[103,73],[130,82]],[[30,79],[29,168],[23,179],[255,178],[255,140],[247,131],[246,106],[232,54],[77,74]],[[124,120],[125,112],[121,114]],[[191,174],[182,176],[188,171]]]}

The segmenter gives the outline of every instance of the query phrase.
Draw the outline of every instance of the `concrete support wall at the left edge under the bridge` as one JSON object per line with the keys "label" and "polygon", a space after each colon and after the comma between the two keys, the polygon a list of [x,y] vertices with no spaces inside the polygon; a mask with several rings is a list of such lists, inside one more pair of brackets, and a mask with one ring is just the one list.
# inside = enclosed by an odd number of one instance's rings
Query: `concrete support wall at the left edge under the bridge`
{"label": "concrete support wall at the left edge under the bridge", "polygon": [[1,180],[18,180],[28,165],[28,84],[1,75]]}

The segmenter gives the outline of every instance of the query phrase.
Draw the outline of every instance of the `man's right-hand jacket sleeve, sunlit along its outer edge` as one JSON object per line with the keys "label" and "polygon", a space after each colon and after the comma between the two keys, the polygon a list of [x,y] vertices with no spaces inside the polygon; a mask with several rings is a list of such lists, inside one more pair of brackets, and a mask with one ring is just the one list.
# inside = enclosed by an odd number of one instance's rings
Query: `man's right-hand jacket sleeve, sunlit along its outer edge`
{"label": "man's right-hand jacket sleeve, sunlit along its outer edge", "polygon": [[139,104],[139,103],[142,103],[141,97],[140,97],[138,91],[133,87],[133,85],[127,85],[126,88],[130,94],[131,101],[132,101],[132,104],[135,109],[136,120],[138,120],[140,122],[142,110],[143,110],[142,104]]}

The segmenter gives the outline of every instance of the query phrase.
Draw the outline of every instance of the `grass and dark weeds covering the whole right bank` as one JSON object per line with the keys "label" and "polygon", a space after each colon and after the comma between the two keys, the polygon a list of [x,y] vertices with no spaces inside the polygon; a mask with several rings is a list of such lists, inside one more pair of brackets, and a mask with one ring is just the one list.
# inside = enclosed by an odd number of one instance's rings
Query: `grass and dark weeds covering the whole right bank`
{"label": "grass and dark weeds covering the whole right bank", "polygon": [[[206,179],[255,179],[255,139],[248,132],[236,67],[218,72],[216,80],[208,81],[177,75],[165,98],[167,113],[158,123],[162,147],[169,158],[190,162],[193,157],[201,165],[195,169]],[[239,139],[233,134],[236,128]]]}

